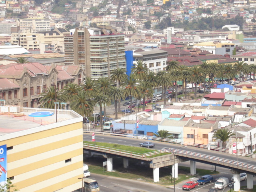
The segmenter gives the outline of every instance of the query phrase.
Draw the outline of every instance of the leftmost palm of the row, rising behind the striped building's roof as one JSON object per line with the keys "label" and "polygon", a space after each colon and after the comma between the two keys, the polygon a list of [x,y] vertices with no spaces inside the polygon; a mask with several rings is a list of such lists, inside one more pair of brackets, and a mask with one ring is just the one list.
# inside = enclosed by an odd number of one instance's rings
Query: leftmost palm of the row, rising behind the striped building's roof
{"label": "leftmost palm of the row, rising behind the striped building's roof", "polygon": [[44,108],[48,109],[54,109],[56,106],[55,102],[64,101],[60,90],[56,89],[54,86],[48,87],[41,93],[41,96],[40,102],[43,104]]}

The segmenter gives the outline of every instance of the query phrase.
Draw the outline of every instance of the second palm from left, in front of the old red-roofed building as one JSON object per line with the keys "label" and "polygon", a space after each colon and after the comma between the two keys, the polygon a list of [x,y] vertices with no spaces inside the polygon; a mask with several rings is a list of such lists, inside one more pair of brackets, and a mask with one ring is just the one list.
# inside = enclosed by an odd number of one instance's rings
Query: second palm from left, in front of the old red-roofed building
{"label": "second palm from left, in front of the old red-roofed building", "polygon": [[80,90],[81,90],[81,88],[77,84],[69,83],[63,89],[63,98],[64,98],[64,100],[66,102],[71,103]]}

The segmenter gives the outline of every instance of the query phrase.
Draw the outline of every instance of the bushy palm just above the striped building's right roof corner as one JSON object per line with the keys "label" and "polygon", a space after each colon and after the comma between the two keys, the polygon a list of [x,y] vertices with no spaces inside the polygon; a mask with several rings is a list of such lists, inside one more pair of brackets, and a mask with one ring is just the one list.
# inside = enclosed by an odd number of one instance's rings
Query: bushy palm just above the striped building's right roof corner
{"label": "bushy palm just above the striped building's right roof corner", "polygon": [[80,90],[74,95],[70,108],[83,117],[89,117],[93,113],[93,101],[84,91]]}

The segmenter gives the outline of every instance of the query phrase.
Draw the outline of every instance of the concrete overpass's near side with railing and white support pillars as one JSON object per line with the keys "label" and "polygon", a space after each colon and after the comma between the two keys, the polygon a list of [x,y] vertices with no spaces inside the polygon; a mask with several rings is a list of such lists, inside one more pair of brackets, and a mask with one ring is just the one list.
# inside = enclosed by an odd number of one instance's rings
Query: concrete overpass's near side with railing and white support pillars
{"label": "concrete overpass's near side with railing and white support pillars", "polygon": [[[178,177],[178,163],[190,160],[190,173],[196,174],[196,162],[212,164],[229,168],[234,174],[234,190],[240,190],[240,173],[247,173],[247,188],[253,188],[253,175],[256,174],[256,160],[248,157],[237,157],[232,154],[223,154],[222,152],[194,148],[182,147],[175,145],[175,148],[166,148],[146,154],[136,154],[132,152],[122,151],[102,146],[94,146],[90,144],[84,145],[84,149],[91,152],[100,152],[107,158],[107,170],[113,171],[113,156],[123,158],[124,168],[128,168],[129,159],[137,159],[150,162],[150,168],[153,168],[154,182],[159,182],[159,168],[164,166],[172,166],[173,177]],[[194,152],[196,150],[196,152]],[[156,156],[156,154],[163,154]],[[220,157],[224,156],[224,157]],[[236,161],[236,158],[238,160]],[[234,160],[235,159],[235,160]]]}

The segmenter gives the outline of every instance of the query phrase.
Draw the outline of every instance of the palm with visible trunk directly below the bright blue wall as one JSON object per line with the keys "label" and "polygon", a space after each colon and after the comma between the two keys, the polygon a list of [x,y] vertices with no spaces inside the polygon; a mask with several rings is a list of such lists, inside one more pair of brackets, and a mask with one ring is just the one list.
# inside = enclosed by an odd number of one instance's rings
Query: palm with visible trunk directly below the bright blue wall
{"label": "palm with visible trunk directly below the bright blue wall", "polygon": [[126,80],[124,80],[123,86],[124,86],[124,95],[126,97],[128,97],[128,96],[130,97],[130,102],[131,102],[130,113],[132,113],[132,96],[137,98],[139,95],[137,80],[133,73],[130,74],[130,76],[128,76],[128,78]]}

